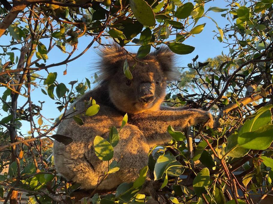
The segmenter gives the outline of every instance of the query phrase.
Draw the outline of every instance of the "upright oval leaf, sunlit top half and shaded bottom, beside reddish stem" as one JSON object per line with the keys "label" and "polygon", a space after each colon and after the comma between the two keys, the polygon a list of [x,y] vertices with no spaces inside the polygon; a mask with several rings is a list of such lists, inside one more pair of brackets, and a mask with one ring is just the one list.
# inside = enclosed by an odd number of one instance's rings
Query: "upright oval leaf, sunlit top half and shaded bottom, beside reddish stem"
{"label": "upright oval leaf, sunlit top half and shaded bottom, beside reddish stem", "polygon": [[193,189],[196,195],[199,197],[205,186],[209,185],[209,169],[203,168],[193,180]]}

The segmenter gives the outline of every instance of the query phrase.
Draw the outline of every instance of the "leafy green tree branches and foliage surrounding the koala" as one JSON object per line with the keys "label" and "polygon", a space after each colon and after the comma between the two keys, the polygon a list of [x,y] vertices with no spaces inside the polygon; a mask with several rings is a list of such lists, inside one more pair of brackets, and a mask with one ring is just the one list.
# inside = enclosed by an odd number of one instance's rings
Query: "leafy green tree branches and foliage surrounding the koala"
{"label": "leafy green tree branches and foliage surrounding the koala", "polygon": [[[143,184],[148,170],[162,182],[158,194],[164,203],[263,202],[273,191],[273,1],[226,0],[225,8],[205,10],[209,1],[1,0],[0,37],[10,39],[0,45],[0,86],[4,90],[0,97],[0,197],[5,196],[4,203],[19,202],[22,193],[30,203],[73,203],[84,194],[78,184],[57,175],[50,155],[53,139],[65,145],[71,142],[54,130],[70,117],[67,108],[98,76],[71,81],[67,87],[58,80],[59,65],[78,59],[93,45],[102,47],[113,41],[136,63],[143,63],[141,58],[163,44],[176,54],[188,54],[198,50],[187,39],[202,32],[206,24],[198,22],[201,18],[215,23],[215,39],[229,47],[229,53],[219,53],[207,62],[199,62],[198,56],[192,59],[187,68],[181,68],[180,81],[168,84],[164,103],[211,111],[215,128],[196,126],[181,133],[169,127],[173,139],[153,148],[154,154],[151,150],[149,165],[138,180],[121,184],[115,194],[98,194],[96,189],[85,192],[85,202],[146,203],[150,197],[138,194],[135,188]],[[221,12],[229,24],[218,27],[211,12]],[[82,36],[89,36],[90,41],[76,54]],[[127,46],[134,45],[140,46],[136,57],[127,51]],[[55,47],[67,58],[50,64],[48,53]],[[130,69],[125,62],[128,78],[132,77]],[[41,75],[41,70],[47,75]],[[56,116],[60,112],[61,116],[56,121],[43,116],[42,101],[31,99],[34,88],[58,105]],[[86,114],[98,111],[93,103]],[[80,117],[73,119],[83,124]],[[20,131],[23,121],[28,122],[29,136]],[[123,125],[126,122],[127,115]],[[110,143],[104,142],[111,153],[117,135],[112,128]],[[99,157],[109,158],[111,155]],[[98,185],[118,170],[118,161],[112,162]]]}

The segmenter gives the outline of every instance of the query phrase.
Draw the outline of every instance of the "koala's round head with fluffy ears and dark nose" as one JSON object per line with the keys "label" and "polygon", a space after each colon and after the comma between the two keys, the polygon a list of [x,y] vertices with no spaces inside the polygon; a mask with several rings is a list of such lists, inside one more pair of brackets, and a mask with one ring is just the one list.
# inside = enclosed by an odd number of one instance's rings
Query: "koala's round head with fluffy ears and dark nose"
{"label": "koala's round head with fluffy ears and dark nose", "polygon": [[[135,59],[118,45],[105,47],[100,52],[98,69],[102,83],[106,84],[111,102],[127,113],[158,110],[165,97],[167,82],[178,77],[174,69],[174,53],[168,47],[150,53],[145,58]],[[133,79],[123,72],[127,59]]]}

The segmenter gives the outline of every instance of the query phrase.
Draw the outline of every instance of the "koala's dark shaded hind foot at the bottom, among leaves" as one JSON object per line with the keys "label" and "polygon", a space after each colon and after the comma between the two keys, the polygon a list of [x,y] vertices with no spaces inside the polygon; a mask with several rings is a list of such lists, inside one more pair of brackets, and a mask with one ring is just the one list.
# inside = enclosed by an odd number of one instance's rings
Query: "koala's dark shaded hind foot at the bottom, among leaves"
{"label": "koala's dark shaded hind foot at the bottom, among leaves", "polygon": [[159,195],[156,193],[159,190],[161,183],[158,181],[153,181],[151,179],[146,179],[142,185],[142,189],[139,191],[140,194],[146,196],[151,196],[154,200],[159,202]]}

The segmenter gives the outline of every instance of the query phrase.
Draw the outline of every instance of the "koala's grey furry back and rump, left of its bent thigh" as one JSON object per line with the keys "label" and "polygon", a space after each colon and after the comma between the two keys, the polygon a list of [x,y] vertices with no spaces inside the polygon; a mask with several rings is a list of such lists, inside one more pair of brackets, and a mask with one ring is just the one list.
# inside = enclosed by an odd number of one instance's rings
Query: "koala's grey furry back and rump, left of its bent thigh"
{"label": "koala's grey furry back and rump, left of its bent thigh", "polygon": [[[85,183],[89,186],[95,186],[97,183],[96,175],[102,175],[103,171],[108,168],[107,162],[99,160],[95,155],[94,148],[92,148],[95,136],[99,135],[106,139],[109,128],[112,126],[118,127],[123,119],[122,113],[111,106],[100,103],[100,94],[98,90],[85,94],[82,99],[76,102],[76,113],[73,113],[73,108],[67,111],[66,115],[72,114],[69,115],[69,119],[65,119],[60,123],[57,134],[68,136],[73,139],[73,142],[64,145],[55,140],[53,146],[54,163],[57,171],[68,180],[82,183],[83,187],[85,187]],[[96,100],[100,110],[94,116],[85,116],[84,99],[86,98],[88,101],[90,97]],[[80,112],[83,112],[79,116],[83,120],[83,125],[78,125],[72,117]],[[95,172],[95,169],[101,169],[101,171]],[[82,172],[82,175],[79,172]],[[86,172],[93,174],[94,179],[89,177],[90,180],[87,180]]]}

